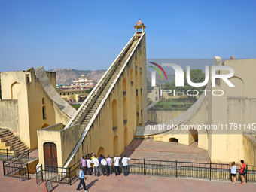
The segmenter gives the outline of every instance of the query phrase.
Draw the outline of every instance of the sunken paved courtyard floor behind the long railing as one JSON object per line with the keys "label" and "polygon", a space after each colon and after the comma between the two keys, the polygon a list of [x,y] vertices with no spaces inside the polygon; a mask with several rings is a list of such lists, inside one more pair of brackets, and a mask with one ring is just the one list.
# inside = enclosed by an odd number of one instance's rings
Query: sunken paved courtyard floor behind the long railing
{"label": "sunken paved courtyard floor behind the long railing", "polygon": [[178,160],[188,162],[209,163],[207,151],[198,148],[197,142],[181,145],[176,142],[153,142],[134,139],[124,151],[126,157],[147,160]]}

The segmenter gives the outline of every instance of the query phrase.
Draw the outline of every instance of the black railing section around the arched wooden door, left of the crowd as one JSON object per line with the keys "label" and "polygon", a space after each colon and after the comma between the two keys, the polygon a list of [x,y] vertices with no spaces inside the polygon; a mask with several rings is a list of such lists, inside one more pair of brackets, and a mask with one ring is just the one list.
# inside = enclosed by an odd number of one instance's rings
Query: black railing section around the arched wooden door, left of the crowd
{"label": "black railing section around the arched wooden door, left of the crowd", "polygon": [[72,181],[78,176],[79,167],[81,167],[81,160],[68,168],[41,165],[36,169],[36,183],[50,180],[55,183],[71,185]]}

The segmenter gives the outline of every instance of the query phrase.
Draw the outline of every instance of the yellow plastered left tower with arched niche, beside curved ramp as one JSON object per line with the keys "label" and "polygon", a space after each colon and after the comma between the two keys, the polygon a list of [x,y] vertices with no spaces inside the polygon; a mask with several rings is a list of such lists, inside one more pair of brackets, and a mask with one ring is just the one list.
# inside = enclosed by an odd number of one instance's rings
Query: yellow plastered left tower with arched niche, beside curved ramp
{"label": "yellow plastered left tower with arched niche, beside curved ramp", "polygon": [[[54,72],[46,73],[50,83],[56,87],[56,74]],[[44,92],[34,71],[2,72],[1,80],[3,102],[6,99],[17,99],[19,126],[8,127],[8,129],[14,130],[30,149],[38,148],[37,130],[55,123],[66,124],[69,122],[70,118]],[[18,86],[14,86],[17,84]],[[43,118],[43,107],[46,118]],[[10,108],[10,110],[15,113],[14,109]]]}

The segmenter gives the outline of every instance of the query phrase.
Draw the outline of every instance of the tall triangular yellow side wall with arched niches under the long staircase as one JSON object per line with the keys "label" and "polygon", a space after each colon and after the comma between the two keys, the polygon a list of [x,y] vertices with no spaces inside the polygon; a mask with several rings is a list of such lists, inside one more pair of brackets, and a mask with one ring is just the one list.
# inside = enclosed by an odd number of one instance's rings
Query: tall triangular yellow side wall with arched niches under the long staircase
{"label": "tall triangular yellow side wall with arched niches under the long staircase", "polygon": [[[72,160],[72,163],[81,159],[87,153],[104,151],[104,155],[114,156],[121,154],[124,150],[125,142],[130,143],[139,124],[147,121],[147,79],[146,79],[146,55],[145,36],[128,61],[123,73],[118,78],[108,99],[90,127],[84,142]],[[140,59],[141,56],[141,59]],[[136,61],[137,59],[137,61]],[[140,64],[140,61],[142,64]],[[136,66],[137,62],[137,66]],[[137,71],[137,83],[136,83]],[[131,74],[133,72],[133,74]],[[142,75],[142,79],[141,79]],[[133,77],[133,79],[132,79]],[[126,80],[126,93],[123,93],[123,79]],[[137,87],[136,87],[137,84]],[[136,107],[136,94],[138,93],[138,103]],[[126,98],[127,119],[123,119],[123,98]],[[112,102],[117,101],[117,129],[113,130],[112,123]],[[137,110],[138,108],[138,110]],[[138,119],[138,120],[137,120]],[[138,123],[138,124],[137,124]],[[125,132],[125,129],[127,131]],[[127,134],[125,136],[125,133]],[[114,139],[116,138],[116,139]],[[114,146],[115,144],[115,146]],[[69,164],[69,166],[72,165]]]}

